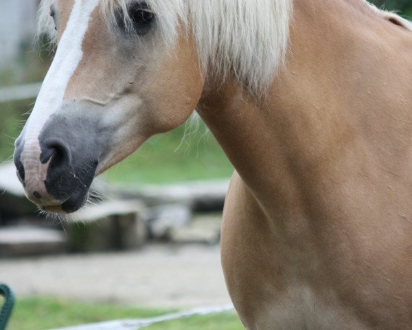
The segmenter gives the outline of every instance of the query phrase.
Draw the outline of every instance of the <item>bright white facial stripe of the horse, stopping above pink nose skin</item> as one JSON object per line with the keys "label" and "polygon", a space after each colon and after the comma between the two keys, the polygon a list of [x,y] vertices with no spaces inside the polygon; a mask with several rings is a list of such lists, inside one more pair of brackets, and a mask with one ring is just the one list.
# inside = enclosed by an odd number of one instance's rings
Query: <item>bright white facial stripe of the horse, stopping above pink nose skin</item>
{"label": "bright white facial stripe of the horse, stopping above pink nose skin", "polygon": [[67,26],[58,43],[52,66],[47,72],[36,104],[25,126],[25,141],[34,142],[47,119],[62,106],[67,84],[82,56],[82,42],[91,13],[99,0],[76,0]]}

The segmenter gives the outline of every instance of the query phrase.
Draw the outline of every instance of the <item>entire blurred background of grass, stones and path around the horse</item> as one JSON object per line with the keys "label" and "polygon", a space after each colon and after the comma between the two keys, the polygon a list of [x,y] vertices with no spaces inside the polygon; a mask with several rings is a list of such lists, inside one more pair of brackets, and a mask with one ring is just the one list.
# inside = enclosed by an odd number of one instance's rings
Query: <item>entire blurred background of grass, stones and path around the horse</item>
{"label": "entire blurred background of grass, stones and path around the horse", "polygon": [[[218,243],[233,168],[202,122],[108,170],[76,221],[45,219],[26,201],[9,162],[52,59],[47,41],[33,41],[39,2],[0,0],[0,283],[19,298],[10,329],[229,303]],[[412,16],[412,0],[373,2]],[[242,329],[233,313],[190,322],[161,329]]]}

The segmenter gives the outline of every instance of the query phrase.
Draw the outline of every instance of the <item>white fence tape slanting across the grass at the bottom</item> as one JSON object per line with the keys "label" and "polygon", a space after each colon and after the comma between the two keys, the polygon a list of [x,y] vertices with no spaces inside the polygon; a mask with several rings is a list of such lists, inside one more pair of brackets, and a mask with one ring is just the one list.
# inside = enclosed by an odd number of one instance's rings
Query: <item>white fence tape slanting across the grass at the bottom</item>
{"label": "white fence tape slanting across the grass at the bottom", "polygon": [[140,330],[156,323],[180,320],[182,318],[191,318],[192,316],[205,316],[209,314],[219,314],[226,311],[234,311],[233,305],[223,305],[216,307],[202,307],[183,311],[180,313],[166,314],[155,318],[145,318],[140,320],[116,320],[109,322],[100,322],[92,325],[80,325],[78,327],[66,327],[53,330]]}

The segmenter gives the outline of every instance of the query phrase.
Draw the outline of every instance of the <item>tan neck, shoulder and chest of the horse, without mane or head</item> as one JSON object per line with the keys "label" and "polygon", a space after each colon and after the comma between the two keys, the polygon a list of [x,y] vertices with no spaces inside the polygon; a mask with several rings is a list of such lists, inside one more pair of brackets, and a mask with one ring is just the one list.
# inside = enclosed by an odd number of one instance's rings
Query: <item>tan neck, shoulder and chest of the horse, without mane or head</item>
{"label": "tan neck, shoulder and chest of the horse, without mane or head", "polygon": [[248,329],[412,329],[412,33],[363,1],[295,0],[260,102],[201,100],[236,167],[222,231]]}

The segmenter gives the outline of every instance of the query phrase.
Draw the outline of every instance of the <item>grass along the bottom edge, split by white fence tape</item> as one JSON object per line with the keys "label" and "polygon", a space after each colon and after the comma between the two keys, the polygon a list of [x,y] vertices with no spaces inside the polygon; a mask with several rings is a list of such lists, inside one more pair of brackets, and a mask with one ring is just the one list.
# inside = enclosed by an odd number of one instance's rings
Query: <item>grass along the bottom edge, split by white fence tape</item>
{"label": "grass along the bottom edge, split by white fence tape", "polygon": [[[16,302],[8,330],[44,330],[122,318],[151,318],[172,312],[125,307],[111,303],[83,303],[58,298],[23,298]],[[236,314],[222,313],[163,322],[144,329],[241,330],[244,327]]]}

